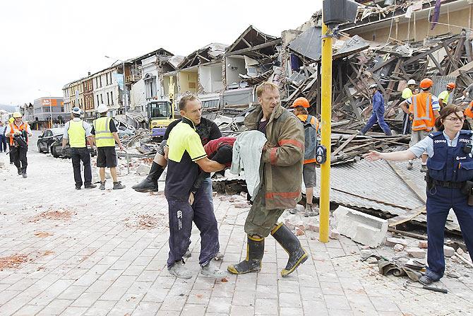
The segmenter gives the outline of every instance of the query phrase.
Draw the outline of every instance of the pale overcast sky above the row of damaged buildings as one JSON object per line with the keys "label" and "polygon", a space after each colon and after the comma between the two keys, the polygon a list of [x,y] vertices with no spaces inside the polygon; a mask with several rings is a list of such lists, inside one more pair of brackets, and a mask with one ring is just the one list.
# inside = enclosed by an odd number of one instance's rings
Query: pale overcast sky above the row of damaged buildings
{"label": "pale overcast sky above the row of damaged buildings", "polygon": [[[73,80],[157,48],[187,55],[230,45],[250,24],[269,35],[297,28],[322,0],[16,0],[0,10],[0,104],[62,96]],[[38,90],[38,89],[41,89]]]}

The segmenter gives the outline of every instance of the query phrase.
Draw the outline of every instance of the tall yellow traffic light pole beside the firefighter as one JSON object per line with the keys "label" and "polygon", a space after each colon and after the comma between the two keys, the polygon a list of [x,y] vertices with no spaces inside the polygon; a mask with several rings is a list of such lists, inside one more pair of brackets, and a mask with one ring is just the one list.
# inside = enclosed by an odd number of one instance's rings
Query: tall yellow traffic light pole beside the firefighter
{"label": "tall yellow traffic light pole beside the firefighter", "polygon": [[321,165],[321,217],[319,240],[328,242],[328,216],[330,211],[330,133],[332,121],[332,32],[322,24],[322,107],[321,144],[327,148],[327,160]]}

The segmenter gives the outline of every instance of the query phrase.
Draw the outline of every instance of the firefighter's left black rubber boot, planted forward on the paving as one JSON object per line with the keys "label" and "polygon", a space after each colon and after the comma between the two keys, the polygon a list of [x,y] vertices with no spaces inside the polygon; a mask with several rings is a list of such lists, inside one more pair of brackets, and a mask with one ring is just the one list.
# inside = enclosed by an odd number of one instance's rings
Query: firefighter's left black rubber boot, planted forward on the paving
{"label": "firefighter's left black rubber boot, planted forward on the paving", "polygon": [[265,252],[265,239],[248,236],[246,245],[246,259],[239,264],[231,264],[227,270],[232,274],[245,274],[251,271],[261,270],[261,259]]}

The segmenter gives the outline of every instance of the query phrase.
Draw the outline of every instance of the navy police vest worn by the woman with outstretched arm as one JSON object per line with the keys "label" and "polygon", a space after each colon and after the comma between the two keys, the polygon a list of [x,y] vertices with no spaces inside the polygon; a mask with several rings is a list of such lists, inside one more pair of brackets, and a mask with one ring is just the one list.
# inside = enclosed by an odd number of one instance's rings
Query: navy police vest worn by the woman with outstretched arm
{"label": "navy police vest worn by the woman with outstretched arm", "polygon": [[463,182],[473,179],[471,150],[464,147],[472,144],[472,131],[460,131],[457,146],[448,146],[442,131],[429,134],[433,140],[433,156],[427,160],[429,176],[438,181]]}

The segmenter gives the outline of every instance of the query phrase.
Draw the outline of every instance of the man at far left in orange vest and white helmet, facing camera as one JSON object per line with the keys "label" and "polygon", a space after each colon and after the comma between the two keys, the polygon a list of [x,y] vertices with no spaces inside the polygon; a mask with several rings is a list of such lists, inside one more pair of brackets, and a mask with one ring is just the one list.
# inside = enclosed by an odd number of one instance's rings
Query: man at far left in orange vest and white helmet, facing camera
{"label": "man at far left in orange vest and white helmet, facing camera", "polygon": [[13,122],[8,124],[5,130],[5,136],[10,138],[10,158],[18,169],[18,175],[26,175],[28,166],[28,137],[32,136],[30,125],[23,122],[23,115],[20,112],[13,113]]}

